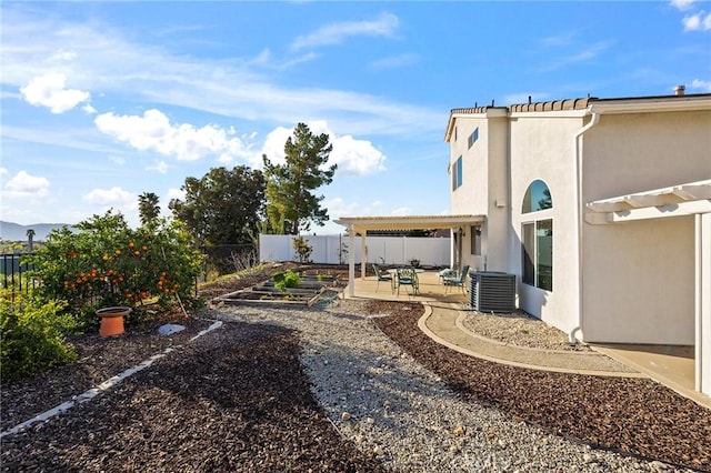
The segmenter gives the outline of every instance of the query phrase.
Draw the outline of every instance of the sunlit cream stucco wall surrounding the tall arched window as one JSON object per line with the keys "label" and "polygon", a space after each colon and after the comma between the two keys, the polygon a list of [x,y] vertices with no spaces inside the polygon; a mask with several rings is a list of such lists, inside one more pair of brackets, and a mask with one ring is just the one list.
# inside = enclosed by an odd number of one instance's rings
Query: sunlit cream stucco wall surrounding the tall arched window
{"label": "sunlit cream stucco wall surrounding the tall arched window", "polygon": [[[515,118],[515,117],[514,117]],[[578,245],[575,236],[575,133],[581,117],[544,118],[522,113],[511,127],[510,272],[519,280],[519,306],[570,332],[578,326]],[[553,208],[522,214],[525,190],[540,179],[551,191]],[[553,220],[553,290],[521,282],[521,233],[528,221]]]}

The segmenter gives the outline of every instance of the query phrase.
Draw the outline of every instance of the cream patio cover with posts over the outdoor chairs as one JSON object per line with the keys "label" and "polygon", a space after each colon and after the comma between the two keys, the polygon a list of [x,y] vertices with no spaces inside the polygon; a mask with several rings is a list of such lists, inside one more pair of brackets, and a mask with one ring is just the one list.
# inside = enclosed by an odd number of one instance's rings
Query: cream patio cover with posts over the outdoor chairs
{"label": "cream patio cover with posts over the outdoor chairs", "polygon": [[[403,215],[403,217],[341,217],[336,223],[348,229],[350,248],[356,248],[356,234],[361,238],[361,278],[365,278],[365,239],[369,230],[459,230],[485,221],[484,215]],[[356,254],[348,259],[348,293],[356,295]]]}

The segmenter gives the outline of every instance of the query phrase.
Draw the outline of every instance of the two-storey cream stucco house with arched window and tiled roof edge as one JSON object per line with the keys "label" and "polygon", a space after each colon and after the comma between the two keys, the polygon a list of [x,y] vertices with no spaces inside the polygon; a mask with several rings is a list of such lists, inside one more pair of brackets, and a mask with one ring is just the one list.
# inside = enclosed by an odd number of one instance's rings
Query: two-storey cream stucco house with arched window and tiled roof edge
{"label": "two-storey cream stucco house with arched window and tiled roof edge", "polygon": [[459,264],[585,342],[694,348],[711,395],[711,94],[451,110]]}

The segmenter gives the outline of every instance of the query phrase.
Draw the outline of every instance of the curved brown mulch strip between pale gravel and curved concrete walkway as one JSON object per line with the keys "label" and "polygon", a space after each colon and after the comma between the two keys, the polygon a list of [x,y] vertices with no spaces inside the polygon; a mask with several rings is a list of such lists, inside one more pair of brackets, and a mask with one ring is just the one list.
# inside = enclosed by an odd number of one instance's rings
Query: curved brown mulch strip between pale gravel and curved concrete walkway
{"label": "curved brown mulch strip between pale gravel and curved concrete walkway", "polygon": [[711,410],[645,379],[527,370],[447,349],[418,329],[422,310],[372,303],[374,323],[464,399],[593,446],[711,471]]}

